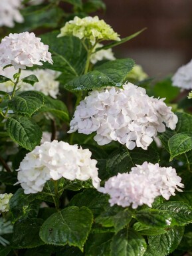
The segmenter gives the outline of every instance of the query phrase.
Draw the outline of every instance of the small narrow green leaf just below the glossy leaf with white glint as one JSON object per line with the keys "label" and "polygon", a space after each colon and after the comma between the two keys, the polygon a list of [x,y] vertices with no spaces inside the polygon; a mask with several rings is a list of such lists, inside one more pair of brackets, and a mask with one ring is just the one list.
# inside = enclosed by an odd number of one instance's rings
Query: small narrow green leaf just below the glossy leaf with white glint
{"label": "small narrow green leaf just below the glossy leaf with white glint", "polygon": [[161,235],[167,232],[166,229],[162,229],[159,227],[158,228],[149,227],[140,222],[136,222],[134,224],[134,230],[139,232],[140,235]]}

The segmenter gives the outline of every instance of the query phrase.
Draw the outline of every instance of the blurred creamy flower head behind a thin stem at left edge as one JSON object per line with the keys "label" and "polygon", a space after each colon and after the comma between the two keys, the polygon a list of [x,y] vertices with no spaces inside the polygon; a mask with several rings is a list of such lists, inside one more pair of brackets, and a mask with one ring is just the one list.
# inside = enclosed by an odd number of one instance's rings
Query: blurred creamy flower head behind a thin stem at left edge
{"label": "blurred creamy flower head behind a thin stem at left edge", "polygon": [[[13,66],[9,66],[3,70],[0,67],[0,74],[6,76],[8,78],[13,79],[13,74],[15,74],[15,68]],[[22,80],[19,82],[19,86],[22,91],[27,90],[37,90],[39,92],[43,92],[45,95],[50,95],[52,98],[57,98],[59,92],[59,82],[56,80],[58,76],[60,76],[60,72],[50,70],[50,69],[35,69],[35,70],[22,70],[20,79],[30,76],[31,74],[35,74],[37,76],[39,82],[36,82],[34,86],[23,82]],[[13,91],[13,82],[7,81],[0,84],[0,90],[5,92]]]}

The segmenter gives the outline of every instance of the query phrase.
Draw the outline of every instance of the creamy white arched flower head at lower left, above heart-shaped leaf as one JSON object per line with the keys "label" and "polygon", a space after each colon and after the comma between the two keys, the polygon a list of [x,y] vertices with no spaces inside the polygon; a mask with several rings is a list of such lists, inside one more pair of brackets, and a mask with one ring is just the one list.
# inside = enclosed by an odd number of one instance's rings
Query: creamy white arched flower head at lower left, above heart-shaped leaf
{"label": "creamy white arched flower head at lower left, above heart-shaped leaf", "polygon": [[66,142],[45,142],[28,153],[19,166],[18,180],[25,193],[37,193],[43,190],[50,179],[88,180],[92,179],[95,188],[100,185],[97,161],[91,159],[88,149]]}

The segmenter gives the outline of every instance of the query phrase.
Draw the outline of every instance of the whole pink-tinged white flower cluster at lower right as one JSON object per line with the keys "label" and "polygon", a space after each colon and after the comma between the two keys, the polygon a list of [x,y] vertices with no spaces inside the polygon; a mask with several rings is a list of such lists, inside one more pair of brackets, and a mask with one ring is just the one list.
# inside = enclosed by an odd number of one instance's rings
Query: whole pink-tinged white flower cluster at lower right
{"label": "whole pink-tinged white flower cluster at lower right", "polygon": [[118,174],[110,178],[104,188],[98,191],[110,195],[110,205],[121,205],[136,209],[139,205],[146,204],[151,207],[155,197],[162,195],[169,199],[175,195],[175,190],[182,192],[181,178],[177,176],[172,167],[159,167],[159,164],[144,162],[142,166],[132,168],[130,174]]}

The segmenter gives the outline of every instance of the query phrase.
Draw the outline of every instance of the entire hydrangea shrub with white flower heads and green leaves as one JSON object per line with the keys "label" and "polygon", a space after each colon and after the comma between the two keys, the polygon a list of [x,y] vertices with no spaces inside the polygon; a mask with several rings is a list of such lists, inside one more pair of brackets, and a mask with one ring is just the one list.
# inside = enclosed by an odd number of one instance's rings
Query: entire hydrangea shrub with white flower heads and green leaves
{"label": "entire hydrangea shrub with white flower heads and green leaves", "polygon": [[155,82],[117,59],[143,30],[121,39],[101,0],[2,6],[0,255],[190,255],[191,63]]}

